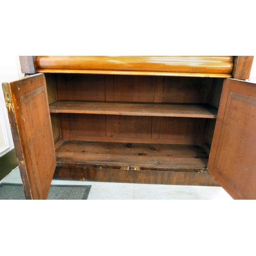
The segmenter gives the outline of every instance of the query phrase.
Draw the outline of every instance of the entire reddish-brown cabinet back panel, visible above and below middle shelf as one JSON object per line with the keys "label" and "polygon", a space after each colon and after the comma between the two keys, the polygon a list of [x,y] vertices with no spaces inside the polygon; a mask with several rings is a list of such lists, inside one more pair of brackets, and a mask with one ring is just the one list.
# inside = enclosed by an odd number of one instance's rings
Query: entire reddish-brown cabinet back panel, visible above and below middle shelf
{"label": "entire reddish-brown cabinet back panel, visible above and below middle shelf", "polygon": [[[54,81],[57,100],[210,104],[216,102],[218,84],[216,78],[92,74],[56,74]],[[206,140],[204,118],[63,114],[60,123],[62,138],[67,140],[109,138],[118,142],[130,138],[136,142],[178,144]]]}

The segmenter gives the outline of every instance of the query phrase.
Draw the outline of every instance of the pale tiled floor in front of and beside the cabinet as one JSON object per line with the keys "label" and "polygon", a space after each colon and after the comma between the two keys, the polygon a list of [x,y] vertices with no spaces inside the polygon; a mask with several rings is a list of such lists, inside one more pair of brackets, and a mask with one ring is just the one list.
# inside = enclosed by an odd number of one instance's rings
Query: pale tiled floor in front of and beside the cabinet
{"label": "pale tiled floor in front of and beside the cabinet", "polygon": [[[18,167],[1,182],[22,183]],[[232,200],[222,187],[130,184],[53,180],[52,184],[92,185],[88,200],[95,199],[203,199]]]}

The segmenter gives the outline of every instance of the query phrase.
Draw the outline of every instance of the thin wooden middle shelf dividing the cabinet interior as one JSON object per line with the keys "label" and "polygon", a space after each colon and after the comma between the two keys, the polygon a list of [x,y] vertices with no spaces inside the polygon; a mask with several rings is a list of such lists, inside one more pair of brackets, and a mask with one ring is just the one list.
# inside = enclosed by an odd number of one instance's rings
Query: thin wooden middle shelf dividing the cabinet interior
{"label": "thin wooden middle shelf dividing the cabinet interior", "polygon": [[138,103],[108,101],[56,101],[51,113],[81,113],[128,116],[217,118],[218,110],[207,104]]}

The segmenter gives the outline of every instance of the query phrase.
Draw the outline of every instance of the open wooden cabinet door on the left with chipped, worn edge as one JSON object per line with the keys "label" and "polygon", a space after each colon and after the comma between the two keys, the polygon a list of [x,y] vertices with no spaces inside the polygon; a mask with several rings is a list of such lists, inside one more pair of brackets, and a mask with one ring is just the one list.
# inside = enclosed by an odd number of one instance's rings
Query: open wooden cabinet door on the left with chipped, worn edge
{"label": "open wooden cabinet door on the left with chipped, worn edge", "polygon": [[46,79],[36,74],[3,83],[27,199],[46,199],[56,167]]}

